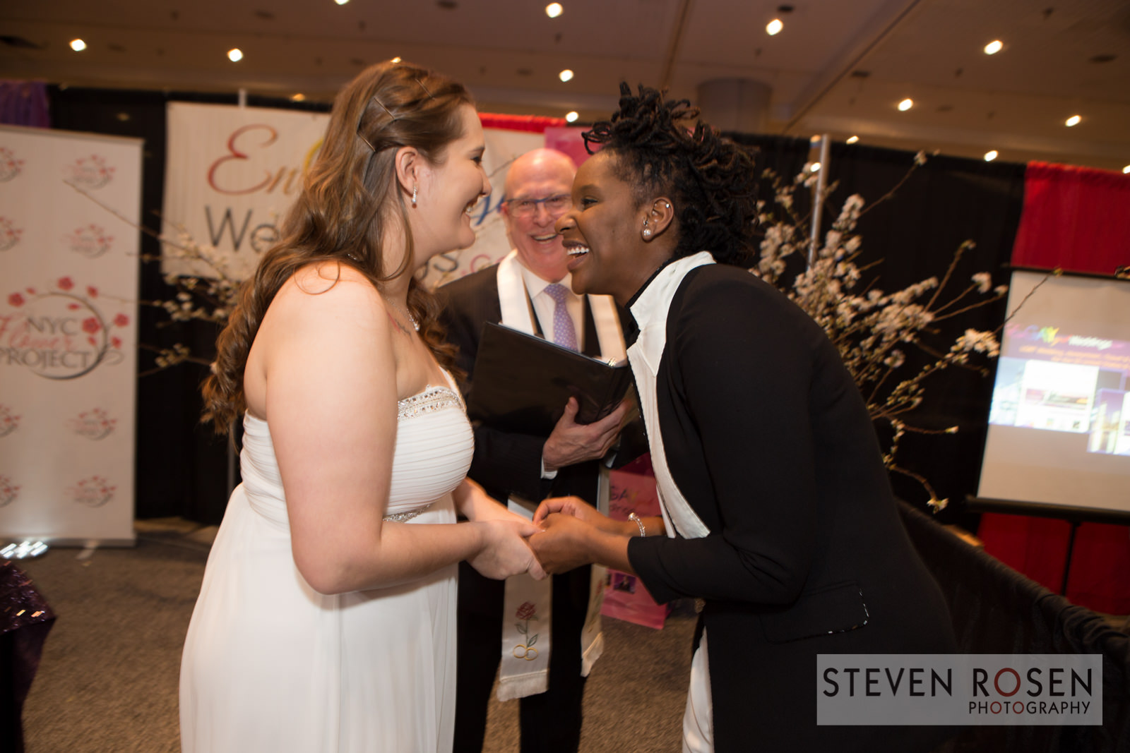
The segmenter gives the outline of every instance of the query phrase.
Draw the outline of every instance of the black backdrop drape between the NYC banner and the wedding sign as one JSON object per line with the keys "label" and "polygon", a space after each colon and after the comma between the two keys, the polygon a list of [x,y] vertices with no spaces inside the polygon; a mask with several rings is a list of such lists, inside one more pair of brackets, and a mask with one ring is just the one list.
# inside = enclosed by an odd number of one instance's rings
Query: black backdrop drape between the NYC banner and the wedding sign
{"label": "black backdrop drape between the NYC banner and the wedding sign", "polygon": [[[142,225],[159,231],[165,185],[165,105],[168,102],[235,104],[234,95],[166,94],[118,89],[50,87],[54,128],[145,140],[141,167]],[[249,105],[325,111],[318,103],[250,97]],[[198,240],[201,240],[198,238]],[[141,252],[159,255],[160,244],[142,236]],[[160,265],[140,263],[142,300],[167,300],[176,290],[165,284]],[[206,322],[169,322],[153,307],[138,312],[138,340],[144,345],[172,347],[181,342],[194,356],[215,354],[217,329]],[[154,352],[142,349],[138,370],[155,367]],[[136,516],[182,516],[199,523],[219,523],[227,504],[227,441],[210,426],[200,424],[200,383],[207,367],[181,364],[138,380]],[[237,465],[237,463],[236,463]],[[238,469],[236,469],[238,482]]]}

